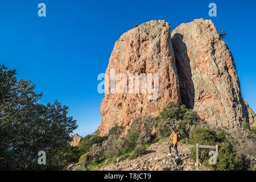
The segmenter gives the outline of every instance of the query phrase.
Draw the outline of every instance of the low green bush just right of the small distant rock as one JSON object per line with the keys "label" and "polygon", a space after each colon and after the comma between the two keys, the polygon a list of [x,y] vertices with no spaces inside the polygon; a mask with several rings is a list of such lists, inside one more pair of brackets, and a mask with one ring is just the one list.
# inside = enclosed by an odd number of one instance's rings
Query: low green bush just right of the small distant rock
{"label": "low green bush just right of the small distant rock", "polygon": [[89,152],[90,147],[93,146],[93,144],[101,144],[104,140],[106,140],[108,137],[100,137],[96,134],[87,135],[79,144],[79,150],[84,152]]}

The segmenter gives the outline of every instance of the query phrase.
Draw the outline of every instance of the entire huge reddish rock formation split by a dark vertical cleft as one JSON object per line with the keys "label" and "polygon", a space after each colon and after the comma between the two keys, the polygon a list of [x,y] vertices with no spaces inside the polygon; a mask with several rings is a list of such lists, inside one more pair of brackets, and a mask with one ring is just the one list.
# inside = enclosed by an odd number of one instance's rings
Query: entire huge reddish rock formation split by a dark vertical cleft
{"label": "entire huge reddish rock formation split by a dark vertical cleft", "polygon": [[[241,96],[232,53],[214,24],[197,19],[181,24],[171,35],[169,31],[167,22],[152,20],[117,40],[106,69],[106,76],[112,78],[105,78],[98,133],[106,135],[115,125],[128,128],[135,118],[158,115],[172,101],[194,109],[214,126],[237,127],[244,121],[255,126],[255,113]],[[123,75],[113,76],[114,72]],[[157,97],[127,90],[136,85],[127,78],[131,73],[159,74]]]}

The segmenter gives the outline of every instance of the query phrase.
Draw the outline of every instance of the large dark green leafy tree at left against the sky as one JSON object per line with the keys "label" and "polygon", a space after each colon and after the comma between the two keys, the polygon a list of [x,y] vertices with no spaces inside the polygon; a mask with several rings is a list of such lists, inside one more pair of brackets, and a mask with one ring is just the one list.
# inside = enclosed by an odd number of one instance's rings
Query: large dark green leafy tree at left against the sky
{"label": "large dark green leafy tree at left against the sky", "polygon": [[[15,70],[0,67],[0,169],[64,169],[71,139],[77,128],[68,107],[55,101],[39,104],[31,81],[17,80]],[[46,152],[46,165],[38,164],[38,152]]]}

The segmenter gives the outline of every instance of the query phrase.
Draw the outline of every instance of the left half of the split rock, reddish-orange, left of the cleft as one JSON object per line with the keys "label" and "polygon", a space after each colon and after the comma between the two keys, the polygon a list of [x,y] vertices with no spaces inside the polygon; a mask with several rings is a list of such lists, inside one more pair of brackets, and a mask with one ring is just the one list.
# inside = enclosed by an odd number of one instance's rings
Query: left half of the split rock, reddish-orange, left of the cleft
{"label": "left half of the split rock, reddish-orange, left of the cleft", "polygon": [[[105,93],[101,103],[102,123],[98,127],[100,135],[108,134],[115,125],[130,126],[133,119],[141,115],[157,115],[171,101],[180,102],[179,80],[169,31],[170,25],[167,22],[152,20],[131,29],[115,42],[106,69],[106,75],[109,77],[110,72],[112,75],[115,72],[115,80],[105,78],[106,83],[109,82],[105,84],[109,87],[115,84],[115,92],[105,85],[108,93]],[[130,73],[142,74],[140,84],[150,81],[147,76],[152,74],[154,83],[158,85],[159,81],[159,93],[153,94],[152,97],[152,93],[148,93],[148,88],[146,92],[141,89],[139,94],[131,93],[122,86],[129,88],[136,83],[128,81],[128,78],[124,82],[120,81],[117,73],[123,73],[123,76],[127,77]],[[143,74],[146,74],[146,80],[143,80]],[[159,80],[155,80],[155,74],[158,74]],[[118,92],[118,84],[126,93]]]}

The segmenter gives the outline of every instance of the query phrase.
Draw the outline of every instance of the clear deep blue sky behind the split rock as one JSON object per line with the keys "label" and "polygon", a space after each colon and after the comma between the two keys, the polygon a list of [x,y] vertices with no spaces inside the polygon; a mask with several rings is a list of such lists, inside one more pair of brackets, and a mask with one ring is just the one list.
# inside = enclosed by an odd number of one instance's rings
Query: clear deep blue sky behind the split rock
{"label": "clear deep blue sky behind the split rock", "polygon": [[[38,4],[47,17],[39,18]],[[217,17],[208,16],[210,2]],[[85,1],[1,0],[0,63],[32,80],[42,103],[60,101],[77,119],[75,133],[84,136],[100,125],[102,94],[97,75],[104,73],[114,42],[123,32],[152,19],[167,20],[172,29],[193,19],[212,19],[228,32],[243,97],[256,110],[256,1]]]}

